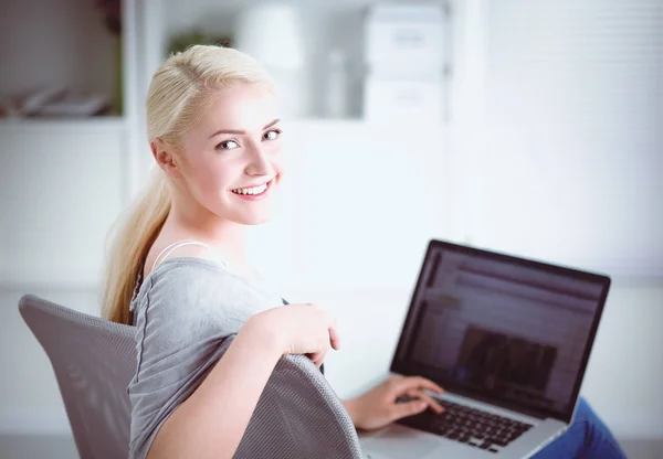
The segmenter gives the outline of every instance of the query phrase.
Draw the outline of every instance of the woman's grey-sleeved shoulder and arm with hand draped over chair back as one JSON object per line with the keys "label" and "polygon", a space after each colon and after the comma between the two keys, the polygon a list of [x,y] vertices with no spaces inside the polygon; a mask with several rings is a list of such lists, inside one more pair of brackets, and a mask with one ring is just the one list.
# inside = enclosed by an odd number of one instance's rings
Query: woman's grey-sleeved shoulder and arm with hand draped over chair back
{"label": "woman's grey-sleeved shoulder and arm with hand draped over chair back", "polygon": [[151,277],[137,308],[137,369],[127,387],[131,458],[232,457],[278,359],[308,354],[319,363],[330,345],[338,349],[327,312],[288,305],[251,316],[225,276],[172,264]]}

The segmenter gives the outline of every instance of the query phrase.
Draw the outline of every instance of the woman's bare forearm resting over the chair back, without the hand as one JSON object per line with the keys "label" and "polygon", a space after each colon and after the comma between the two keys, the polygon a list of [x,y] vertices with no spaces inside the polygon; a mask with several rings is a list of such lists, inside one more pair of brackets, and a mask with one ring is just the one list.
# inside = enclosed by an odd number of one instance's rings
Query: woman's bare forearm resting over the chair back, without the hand
{"label": "woman's bare forearm resting over the chair back, without the hand", "polygon": [[148,458],[232,458],[282,354],[274,333],[246,322],[196,392],[164,423]]}

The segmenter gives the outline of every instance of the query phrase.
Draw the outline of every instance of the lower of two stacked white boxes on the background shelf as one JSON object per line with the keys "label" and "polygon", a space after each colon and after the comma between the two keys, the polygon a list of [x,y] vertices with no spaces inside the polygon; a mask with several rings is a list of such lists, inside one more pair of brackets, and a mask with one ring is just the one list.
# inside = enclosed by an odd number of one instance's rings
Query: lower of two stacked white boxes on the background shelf
{"label": "lower of two stacked white boxes on the background shelf", "polygon": [[364,118],[368,121],[442,122],[444,88],[440,81],[366,78]]}

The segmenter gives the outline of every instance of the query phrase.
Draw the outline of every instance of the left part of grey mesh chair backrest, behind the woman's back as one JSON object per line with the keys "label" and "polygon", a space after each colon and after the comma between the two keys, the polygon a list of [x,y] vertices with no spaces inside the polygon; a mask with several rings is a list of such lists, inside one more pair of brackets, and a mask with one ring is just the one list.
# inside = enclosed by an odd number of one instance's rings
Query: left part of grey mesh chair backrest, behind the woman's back
{"label": "left part of grey mesh chair backrest, behind the woman's back", "polygon": [[19,300],[23,320],[46,352],[81,458],[129,453],[136,372],[134,327],[84,314],[33,295]]}

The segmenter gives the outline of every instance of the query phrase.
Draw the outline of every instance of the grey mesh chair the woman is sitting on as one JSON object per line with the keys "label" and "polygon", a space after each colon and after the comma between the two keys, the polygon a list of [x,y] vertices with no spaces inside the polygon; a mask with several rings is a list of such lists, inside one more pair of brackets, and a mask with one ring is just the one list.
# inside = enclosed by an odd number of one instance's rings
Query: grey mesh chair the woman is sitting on
{"label": "grey mesh chair the woman is sitting on", "polygon": [[[135,328],[33,295],[20,299],[19,310],[53,365],[81,458],[126,459]],[[234,457],[360,459],[362,455],[347,412],[318,369],[303,355],[286,355],[276,364]]]}

